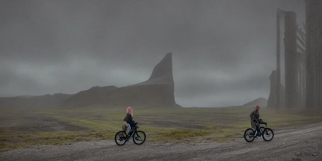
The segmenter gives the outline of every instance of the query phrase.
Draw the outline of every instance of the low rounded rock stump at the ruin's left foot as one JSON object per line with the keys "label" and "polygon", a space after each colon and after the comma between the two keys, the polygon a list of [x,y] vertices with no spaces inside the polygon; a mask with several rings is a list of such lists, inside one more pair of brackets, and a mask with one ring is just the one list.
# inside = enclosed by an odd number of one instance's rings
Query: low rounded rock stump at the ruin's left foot
{"label": "low rounded rock stump at the ruin's left foot", "polygon": [[[270,74],[270,96],[267,100],[268,108],[276,107],[276,86],[277,86],[277,71],[273,70]],[[283,85],[280,85],[280,107],[285,105],[285,88]]]}

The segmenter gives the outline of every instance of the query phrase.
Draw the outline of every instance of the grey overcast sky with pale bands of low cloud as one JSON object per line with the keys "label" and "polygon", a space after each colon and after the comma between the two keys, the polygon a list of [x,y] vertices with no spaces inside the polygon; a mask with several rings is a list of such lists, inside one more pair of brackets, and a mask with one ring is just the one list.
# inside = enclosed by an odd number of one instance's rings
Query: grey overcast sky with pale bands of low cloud
{"label": "grey overcast sky with pale bands of low cloud", "polygon": [[0,0],[0,96],[135,84],[172,52],[179,105],[268,99],[277,7],[305,20],[304,0]]}

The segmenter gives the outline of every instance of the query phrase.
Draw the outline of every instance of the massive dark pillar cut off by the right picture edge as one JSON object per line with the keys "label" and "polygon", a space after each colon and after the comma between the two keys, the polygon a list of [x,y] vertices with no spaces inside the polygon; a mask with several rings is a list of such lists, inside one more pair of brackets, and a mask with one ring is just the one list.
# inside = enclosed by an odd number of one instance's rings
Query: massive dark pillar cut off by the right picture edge
{"label": "massive dark pillar cut off by the right picture edge", "polygon": [[322,107],[322,1],[306,0],[306,107]]}

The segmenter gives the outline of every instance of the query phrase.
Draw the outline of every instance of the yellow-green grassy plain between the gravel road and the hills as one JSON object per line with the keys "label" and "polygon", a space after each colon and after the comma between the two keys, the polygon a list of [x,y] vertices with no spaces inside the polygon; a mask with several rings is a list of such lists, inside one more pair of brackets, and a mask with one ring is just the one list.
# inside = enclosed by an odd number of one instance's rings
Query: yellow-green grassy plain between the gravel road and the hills
{"label": "yellow-green grassy plain between the gravel road and the hills", "polygon": [[[139,129],[147,141],[217,141],[242,137],[249,128],[252,109],[133,109]],[[0,151],[35,145],[71,144],[78,141],[114,139],[124,125],[124,111],[89,109],[1,109]],[[283,114],[282,114],[283,113]],[[317,122],[321,117],[287,111],[260,109],[268,127]]]}

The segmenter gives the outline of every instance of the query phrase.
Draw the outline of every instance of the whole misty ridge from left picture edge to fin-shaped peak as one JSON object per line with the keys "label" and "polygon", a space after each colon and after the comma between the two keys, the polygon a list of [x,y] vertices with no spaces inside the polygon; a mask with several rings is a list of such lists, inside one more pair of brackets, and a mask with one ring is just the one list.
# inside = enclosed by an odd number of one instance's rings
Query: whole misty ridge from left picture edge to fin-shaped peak
{"label": "whole misty ridge from left picture edge to fin-shaped peak", "polygon": [[172,74],[172,53],[154,67],[150,78],[141,83],[125,86],[95,86],[76,94],[56,93],[43,96],[18,96],[0,98],[0,107],[16,108],[70,108],[70,107],[171,107],[182,108],[175,103]]}

